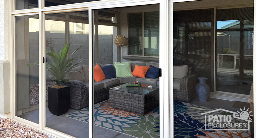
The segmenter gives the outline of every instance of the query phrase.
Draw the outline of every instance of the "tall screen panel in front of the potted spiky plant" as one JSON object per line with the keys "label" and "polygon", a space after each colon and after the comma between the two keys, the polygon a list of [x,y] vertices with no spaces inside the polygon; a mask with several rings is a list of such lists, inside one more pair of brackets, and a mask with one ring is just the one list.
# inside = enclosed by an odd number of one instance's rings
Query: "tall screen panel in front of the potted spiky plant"
{"label": "tall screen panel in front of the potted spiky plant", "polygon": [[88,137],[88,11],[45,14],[46,127]]}

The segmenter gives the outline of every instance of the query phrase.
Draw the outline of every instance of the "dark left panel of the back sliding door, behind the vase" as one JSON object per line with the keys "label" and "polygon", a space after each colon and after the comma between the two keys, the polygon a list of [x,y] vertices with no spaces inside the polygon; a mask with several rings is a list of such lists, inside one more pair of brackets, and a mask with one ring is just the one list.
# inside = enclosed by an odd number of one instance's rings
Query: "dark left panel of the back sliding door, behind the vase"
{"label": "dark left panel of the back sliding door, behind the vase", "polygon": [[[173,11],[173,64],[192,67],[214,91],[213,9]],[[196,83],[199,81],[196,79]]]}

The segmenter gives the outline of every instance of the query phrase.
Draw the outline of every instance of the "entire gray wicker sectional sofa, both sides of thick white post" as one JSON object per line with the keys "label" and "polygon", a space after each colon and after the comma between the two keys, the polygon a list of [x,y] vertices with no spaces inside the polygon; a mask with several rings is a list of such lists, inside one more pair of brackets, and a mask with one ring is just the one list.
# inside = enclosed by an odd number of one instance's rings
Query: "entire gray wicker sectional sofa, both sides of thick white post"
{"label": "entire gray wicker sectional sofa, both sides of thick white post", "polygon": [[[101,64],[100,67],[108,66],[110,64]],[[113,65],[113,64],[112,64]],[[135,65],[139,66],[149,66],[152,65],[154,67],[159,68],[159,64],[157,63],[132,63],[131,69],[132,71],[135,68]],[[180,67],[180,66],[177,66]],[[70,89],[70,108],[79,110],[85,107],[88,107],[88,99],[89,99],[89,71],[87,70],[88,66],[78,66],[75,70],[80,71],[72,72],[69,74],[69,78],[72,79],[70,82],[64,83],[64,85],[71,86]],[[174,69],[175,70],[175,69]],[[180,74],[179,71],[182,68],[176,69],[178,72],[174,72],[178,77],[174,79],[174,100],[190,102],[195,96],[195,75],[191,74],[191,68],[186,67],[185,71],[187,74]],[[184,69],[183,69],[184,70]],[[184,71],[183,71],[184,72]],[[180,75],[180,76],[179,76]],[[175,75],[174,75],[175,76]],[[179,77],[181,77],[179,79]],[[94,103],[99,103],[104,100],[109,99],[108,90],[110,88],[119,86],[128,82],[136,82],[139,81],[144,84],[159,86],[159,78],[140,78],[140,77],[120,77],[120,78],[112,78],[112,79],[104,79],[100,82],[94,81]]]}

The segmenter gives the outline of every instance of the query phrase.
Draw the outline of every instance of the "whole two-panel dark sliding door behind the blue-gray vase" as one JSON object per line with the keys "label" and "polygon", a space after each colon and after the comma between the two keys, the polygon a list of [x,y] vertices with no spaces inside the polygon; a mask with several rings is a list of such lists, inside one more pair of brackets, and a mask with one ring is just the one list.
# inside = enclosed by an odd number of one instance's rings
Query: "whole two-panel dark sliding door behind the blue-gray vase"
{"label": "whole two-panel dark sliding door behind the blue-gray vase", "polygon": [[208,78],[211,92],[248,98],[253,82],[253,7],[175,10],[173,30],[174,65],[188,65],[196,77]]}

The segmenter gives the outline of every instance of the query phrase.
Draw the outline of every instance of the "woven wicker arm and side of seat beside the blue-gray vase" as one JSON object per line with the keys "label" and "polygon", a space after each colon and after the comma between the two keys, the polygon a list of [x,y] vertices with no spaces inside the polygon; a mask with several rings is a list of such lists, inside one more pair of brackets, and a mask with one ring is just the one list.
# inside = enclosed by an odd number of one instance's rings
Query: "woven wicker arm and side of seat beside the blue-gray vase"
{"label": "woven wicker arm and side of seat beside the blue-gray vase", "polygon": [[188,67],[188,75],[181,79],[181,90],[174,89],[174,100],[190,102],[196,97],[196,75],[191,74],[192,68]]}

